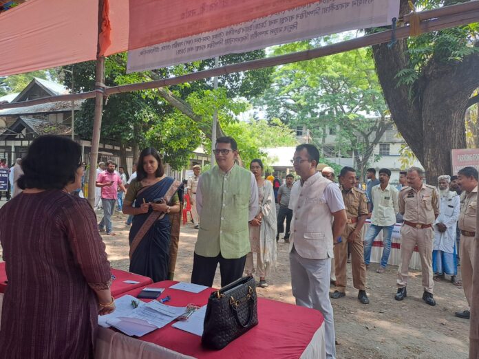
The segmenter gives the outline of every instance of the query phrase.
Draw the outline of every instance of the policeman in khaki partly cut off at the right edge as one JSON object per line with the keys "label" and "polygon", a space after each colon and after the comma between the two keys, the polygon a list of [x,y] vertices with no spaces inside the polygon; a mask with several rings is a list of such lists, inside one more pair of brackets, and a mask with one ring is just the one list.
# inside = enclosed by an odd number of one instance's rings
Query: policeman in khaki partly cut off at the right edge
{"label": "policeman in khaki partly cut off at the right edge", "polygon": [[[472,304],[472,274],[474,259],[478,255],[476,247],[476,210],[478,210],[478,170],[473,167],[462,168],[458,172],[460,195],[460,215],[458,226],[460,230],[460,273],[462,287],[466,294],[469,307]],[[469,310],[456,312],[459,318],[469,319]]]}

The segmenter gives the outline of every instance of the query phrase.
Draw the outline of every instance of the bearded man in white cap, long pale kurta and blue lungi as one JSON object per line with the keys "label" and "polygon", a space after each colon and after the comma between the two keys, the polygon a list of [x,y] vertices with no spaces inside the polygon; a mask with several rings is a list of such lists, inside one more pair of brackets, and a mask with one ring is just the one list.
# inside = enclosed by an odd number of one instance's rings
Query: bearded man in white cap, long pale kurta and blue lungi
{"label": "bearded man in white cap, long pale kurta and blue lungi", "polygon": [[451,276],[451,282],[458,284],[456,275],[456,226],[459,219],[460,200],[456,192],[449,191],[451,177],[438,177],[439,215],[434,222],[434,245],[432,247],[432,270],[434,280]]}

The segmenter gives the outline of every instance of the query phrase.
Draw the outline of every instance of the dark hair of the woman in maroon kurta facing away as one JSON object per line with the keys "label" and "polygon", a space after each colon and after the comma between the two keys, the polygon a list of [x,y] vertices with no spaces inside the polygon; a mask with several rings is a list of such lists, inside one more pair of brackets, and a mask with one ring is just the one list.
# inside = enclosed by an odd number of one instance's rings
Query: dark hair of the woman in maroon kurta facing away
{"label": "dark hair of the woman in maroon kurta facing away", "polygon": [[21,189],[63,189],[75,181],[81,166],[81,146],[70,138],[43,135],[28,147],[21,161],[23,175],[17,184]]}

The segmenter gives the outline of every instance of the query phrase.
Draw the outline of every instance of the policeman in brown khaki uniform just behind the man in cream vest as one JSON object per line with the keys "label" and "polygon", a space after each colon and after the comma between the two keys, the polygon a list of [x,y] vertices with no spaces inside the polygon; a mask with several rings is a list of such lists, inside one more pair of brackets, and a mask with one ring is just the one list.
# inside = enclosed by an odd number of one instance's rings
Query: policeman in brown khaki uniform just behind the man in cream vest
{"label": "policeman in brown khaki uniform just behind the man in cream vest", "polygon": [[330,296],[338,299],[345,296],[346,290],[346,261],[348,259],[348,242],[351,250],[352,284],[359,290],[358,299],[363,304],[369,303],[366,295],[366,265],[364,264],[364,246],[361,229],[368,217],[368,200],[363,191],[354,186],[356,170],[352,167],[343,167],[339,175],[344,206],[348,215],[341,235],[341,242],[334,243],[334,269],[336,272],[336,290]]}

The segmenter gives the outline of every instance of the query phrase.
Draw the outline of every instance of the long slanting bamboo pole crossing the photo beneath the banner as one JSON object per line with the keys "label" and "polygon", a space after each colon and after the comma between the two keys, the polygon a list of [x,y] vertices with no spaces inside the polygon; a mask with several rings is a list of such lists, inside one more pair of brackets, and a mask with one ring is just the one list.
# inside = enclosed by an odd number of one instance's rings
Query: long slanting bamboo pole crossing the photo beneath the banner
{"label": "long slanting bamboo pole crossing the photo beneath the banner", "polygon": [[[467,10],[463,10],[467,6]],[[460,8],[462,7],[462,8]],[[459,11],[461,10],[461,11]],[[455,6],[447,6],[436,10],[428,10],[421,14],[425,20],[421,21],[421,32],[432,32],[443,30],[445,28],[454,28],[455,26],[465,25],[479,21],[479,1],[471,1],[470,3],[459,4]],[[450,14],[449,14],[450,13]],[[441,14],[441,17],[438,16]],[[404,39],[409,37],[409,26],[403,26],[396,29],[396,39]],[[105,89],[105,96],[113,94],[121,94],[130,91],[140,91],[144,89],[156,89],[158,87],[168,87],[178,85],[180,83],[188,83],[195,80],[202,80],[204,78],[211,78],[215,76],[223,76],[235,72],[244,72],[252,69],[261,69],[264,67],[271,67],[277,65],[284,65],[287,63],[295,63],[298,61],[311,60],[332,54],[339,54],[350,50],[359,49],[379,43],[387,43],[391,40],[392,30],[385,30],[367,36],[362,36],[349,41],[335,43],[317,49],[307,50],[304,52],[295,52],[293,54],[286,54],[270,58],[261,58],[259,60],[246,61],[244,63],[237,63],[233,65],[226,65],[213,69],[207,69],[200,72],[167,78],[164,80],[154,80],[147,83],[134,83],[129,85],[107,87]],[[93,98],[96,96],[95,91],[83,92],[79,94],[52,96],[50,98],[40,98],[37,100],[29,100],[24,102],[14,102],[0,105],[0,109],[11,109],[16,107],[25,107],[32,105],[39,105],[47,102],[81,100],[86,98]]]}

